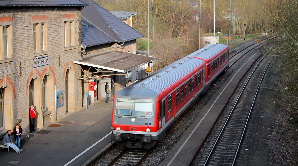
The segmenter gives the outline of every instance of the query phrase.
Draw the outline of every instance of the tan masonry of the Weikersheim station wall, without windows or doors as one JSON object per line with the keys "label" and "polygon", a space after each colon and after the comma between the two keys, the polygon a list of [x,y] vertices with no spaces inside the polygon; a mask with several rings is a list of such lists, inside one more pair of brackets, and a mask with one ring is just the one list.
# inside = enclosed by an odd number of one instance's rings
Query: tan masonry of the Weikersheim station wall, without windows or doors
{"label": "tan masonry of the Weikersheim station wall, without windows or doors", "polygon": [[[46,74],[46,66],[33,68],[33,32],[32,32],[32,16],[47,16],[48,28],[48,51],[49,54],[49,76],[51,77],[51,86],[56,91],[65,90],[65,66],[69,60],[78,59],[81,54],[80,46],[80,7],[10,7],[0,8],[0,17],[13,17],[13,53],[15,54],[12,62],[0,63],[0,78],[3,76],[11,79],[15,87],[16,98],[12,101],[12,115],[4,114],[4,116],[13,116],[13,126],[16,119],[22,119],[21,126],[28,132],[29,127],[29,93],[28,88],[30,81],[36,73],[35,83],[38,89],[34,89],[34,95],[41,96],[42,80]],[[64,50],[63,46],[63,14],[75,15],[75,48]],[[79,21],[77,21],[79,20]],[[21,70],[19,70],[21,66]],[[36,69],[36,72],[34,71]],[[74,64],[71,69],[77,73],[77,66]],[[21,72],[21,73],[20,73]],[[77,76],[74,76],[76,84]],[[3,84],[3,83],[2,83]],[[0,85],[1,86],[1,85]],[[75,85],[76,86],[76,85]],[[1,86],[2,87],[2,86]],[[82,107],[80,91],[75,90],[75,110]],[[9,88],[9,87],[7,87]],[[4,88],[5,89],[5,88]],[[55,99],[55,92],[52,92]],[[34,99],[34,105],[40,106],[41,99]],[[35,104],[36,103],[36,104]],[[54,102],[55,103],[55,102]],[[55,107],[53,107],[55,108]],[[5,111],[5,110],[4,110]],[[41,107],[37,108],[41,113]],[[53,117],[57,111],[57,120],[65,116],[65,105],[58,107],[52,111]],[[4,112],[5,113],[5,112]],[[40,117],[41,118],[41,114]],[[56,119],[56,117],[54,117]],[[55,121],[54,119],[54,121]]]}

